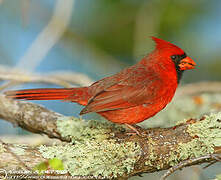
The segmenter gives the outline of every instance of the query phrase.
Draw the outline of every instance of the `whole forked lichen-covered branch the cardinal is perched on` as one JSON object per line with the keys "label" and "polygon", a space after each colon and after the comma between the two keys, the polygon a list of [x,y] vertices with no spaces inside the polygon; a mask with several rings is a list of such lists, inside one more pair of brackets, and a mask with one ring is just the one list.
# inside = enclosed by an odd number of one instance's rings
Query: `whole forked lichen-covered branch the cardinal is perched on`
{"label": "whole forked lichen-covered branch the cardinal is perched on", "polygon": [[[3,95],[0,96],[0,117],[28,131],[70,141],[34,148],[1,144],[0,169],[6,171],[22,169],[7,149],[31,169],[56,157],[62,160],[66,175],[75,178],[128,178],[169,169],[192,158],[221,154],[221,113],[189,119],[171,128],[140,128],[142,137],[129,135],[124,127],[113,123],[85,122]],[[185,166],[211,161],[214,159],[204,158]]]}

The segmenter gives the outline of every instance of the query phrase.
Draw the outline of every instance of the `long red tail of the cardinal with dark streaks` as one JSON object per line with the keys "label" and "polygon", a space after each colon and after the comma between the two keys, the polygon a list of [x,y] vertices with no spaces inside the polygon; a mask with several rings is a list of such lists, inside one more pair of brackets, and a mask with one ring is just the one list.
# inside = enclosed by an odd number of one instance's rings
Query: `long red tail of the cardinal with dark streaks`
{"label": "long red tail of the cardinal with dark streaks", "polygon": [[88,101],[87,87],[82,88],[46,88],[7,91],[5,95],[13,99],[24,100],[65,100],[86,105]]}

